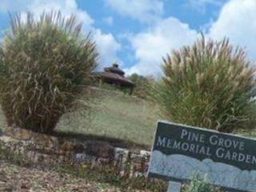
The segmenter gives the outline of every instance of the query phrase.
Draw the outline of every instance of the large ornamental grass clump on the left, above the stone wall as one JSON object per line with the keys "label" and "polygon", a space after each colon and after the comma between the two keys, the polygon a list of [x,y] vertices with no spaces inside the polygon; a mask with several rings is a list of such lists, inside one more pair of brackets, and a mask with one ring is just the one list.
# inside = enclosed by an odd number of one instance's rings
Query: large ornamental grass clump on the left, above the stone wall
{"label": "large ornamental grass clump on the left, above the stone wall", "polygon": [[50,132],[89,83],[97,66],[94,42],[82,37],[74,16],[60,12],[10,19],[0,46],[2,110],[9,126]]}

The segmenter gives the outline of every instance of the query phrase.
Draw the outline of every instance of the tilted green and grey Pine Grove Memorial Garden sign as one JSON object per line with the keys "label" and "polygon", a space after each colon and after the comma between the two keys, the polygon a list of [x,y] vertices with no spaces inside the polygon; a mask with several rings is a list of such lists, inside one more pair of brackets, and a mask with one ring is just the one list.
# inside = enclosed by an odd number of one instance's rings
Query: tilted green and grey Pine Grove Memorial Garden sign
{"label": "tilted green and grey Pine Grove Memorial Garden sign", "polygon": [[148,175],[175,182],[201,175],[223,190],[256,192],[256,140],[158,122]]}

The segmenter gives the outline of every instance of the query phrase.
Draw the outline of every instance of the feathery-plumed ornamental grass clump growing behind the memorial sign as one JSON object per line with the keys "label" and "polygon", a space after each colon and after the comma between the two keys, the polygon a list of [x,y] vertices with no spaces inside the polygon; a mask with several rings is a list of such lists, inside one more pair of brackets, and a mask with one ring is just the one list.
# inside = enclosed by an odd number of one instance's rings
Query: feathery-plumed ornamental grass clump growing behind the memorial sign
{"label": "feathery-plumed ornamental grass clump growing behind the memorial sign", "polygon": [[255,69],[228,39],[202,38],[163,58],[154,86],[160,114],[173,122],[230,132],[255,117]]}

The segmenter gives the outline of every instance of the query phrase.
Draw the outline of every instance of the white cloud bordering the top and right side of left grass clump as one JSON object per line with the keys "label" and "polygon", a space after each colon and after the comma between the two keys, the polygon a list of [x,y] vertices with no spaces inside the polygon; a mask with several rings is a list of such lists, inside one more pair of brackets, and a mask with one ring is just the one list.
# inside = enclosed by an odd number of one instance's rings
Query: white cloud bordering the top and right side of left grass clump
{"label": "white cloud bordering the top and right side of left grass clump", "polygon": [[[96,42],[100,57],[100,66],[110,66],[111,62],[118,60],[118,50],[121,45],[116,41],[112,34],[104,34],[102,30],[93,26],[94,19],[90,18],[85,10],[78,8],[75,0],[0,0],[0,11],[31,11],[36,16],[43,11],[60,10],[62,14],[69,17],[75,14],[78,22],[82,22],[84,33],[91,32],[92,38]],[[3,1],[3,3],[2,3]]]}

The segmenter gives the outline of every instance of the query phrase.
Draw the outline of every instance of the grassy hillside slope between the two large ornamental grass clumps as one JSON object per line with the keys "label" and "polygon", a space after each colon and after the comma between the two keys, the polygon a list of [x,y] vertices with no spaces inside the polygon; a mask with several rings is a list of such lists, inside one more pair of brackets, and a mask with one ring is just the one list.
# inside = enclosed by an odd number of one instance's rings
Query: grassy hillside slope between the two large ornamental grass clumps
{"label": "grassy hillside slope between the two large ornamental grass clumps", "polygon": [[56,130],[119,139],[150,146],[158,121],[154,104],[119,91],[93,90],[90,120],[84,113],[65,114]]}

